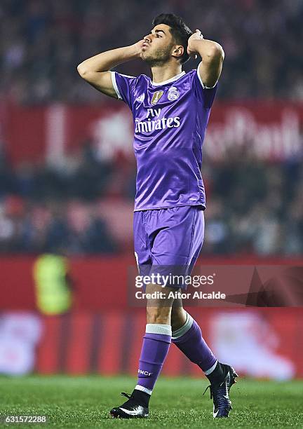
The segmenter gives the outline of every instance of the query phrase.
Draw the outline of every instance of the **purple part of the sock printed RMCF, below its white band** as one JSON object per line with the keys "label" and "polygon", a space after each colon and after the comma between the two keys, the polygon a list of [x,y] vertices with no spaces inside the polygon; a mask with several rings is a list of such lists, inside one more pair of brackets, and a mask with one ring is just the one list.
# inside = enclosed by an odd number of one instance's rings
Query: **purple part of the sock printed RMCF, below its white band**
{"label": "purple part of the sock printed RMCF, below its white band", "polygon": [[153,390],[168,349],[171,336],[163,334],[145,334],[139,360],[137,384]]}

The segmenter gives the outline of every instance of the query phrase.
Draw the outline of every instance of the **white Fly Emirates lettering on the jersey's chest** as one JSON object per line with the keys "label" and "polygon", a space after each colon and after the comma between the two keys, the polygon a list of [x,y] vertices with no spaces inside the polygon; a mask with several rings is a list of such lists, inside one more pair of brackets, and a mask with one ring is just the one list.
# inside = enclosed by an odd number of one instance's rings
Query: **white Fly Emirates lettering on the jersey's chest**
{"label": "white Fly Emirates lettering on the jersey's chest", "polygon": [[153,132],[154,130],[166,130],[166,128],[180,127],[180,116],[159,118],[161,109],[147,109],[145,121],[135,119],[135,132]]}

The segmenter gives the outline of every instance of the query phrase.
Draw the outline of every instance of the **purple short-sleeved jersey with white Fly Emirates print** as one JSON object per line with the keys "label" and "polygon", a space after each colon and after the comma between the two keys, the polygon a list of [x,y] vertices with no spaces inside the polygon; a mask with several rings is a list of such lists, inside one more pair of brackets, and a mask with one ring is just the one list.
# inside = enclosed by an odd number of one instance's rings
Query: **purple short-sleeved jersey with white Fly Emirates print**
{"label": "purple short-sleeved jersey with white Fly Emirates print", "polygon": [[217,84],[204,88],[197,70],[153,83],[112,71],[116,95],[133,112],[137,160],[135,211],[202,205],[202,144]]}

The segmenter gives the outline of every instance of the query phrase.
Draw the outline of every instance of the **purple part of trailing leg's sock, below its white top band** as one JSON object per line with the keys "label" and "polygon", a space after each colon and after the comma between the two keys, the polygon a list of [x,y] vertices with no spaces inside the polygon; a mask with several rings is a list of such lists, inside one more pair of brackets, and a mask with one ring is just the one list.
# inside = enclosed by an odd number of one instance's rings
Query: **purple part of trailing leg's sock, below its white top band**
{"label": "purple part of trailing leg's sock, below its white top band", "polygon": [[172,342],[203,371],[213,367],[217,360],[203,339],[201,329],[195,320],[184,335],[172,339]]}

